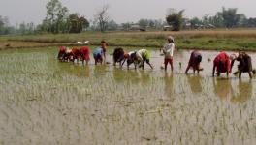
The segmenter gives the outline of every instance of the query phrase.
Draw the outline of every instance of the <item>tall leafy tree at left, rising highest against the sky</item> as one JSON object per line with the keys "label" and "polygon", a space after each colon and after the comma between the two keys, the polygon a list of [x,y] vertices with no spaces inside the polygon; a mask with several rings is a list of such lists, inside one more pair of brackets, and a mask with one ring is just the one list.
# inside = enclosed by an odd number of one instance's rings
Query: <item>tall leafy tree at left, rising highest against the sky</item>
{"label": "tall leafy tree at left, rising highest against the sky", "polygon": [[63,7],[58,0],[47,3],[47,17],[43,21],[43,28],[51,33],[65,32],[67,30],[67,7]]}

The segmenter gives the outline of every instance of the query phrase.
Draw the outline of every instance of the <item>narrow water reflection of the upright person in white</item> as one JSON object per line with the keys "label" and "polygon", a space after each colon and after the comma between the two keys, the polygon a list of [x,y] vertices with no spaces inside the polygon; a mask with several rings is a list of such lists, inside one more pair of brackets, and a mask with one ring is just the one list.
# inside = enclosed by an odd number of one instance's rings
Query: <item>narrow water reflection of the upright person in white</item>
{"label": "narrow water reflection of the upright person in white", "polygon": [[167,97],[172,97],[174,96],[174,76],[173,73],[168,74],[167,72],[165,73],[165,94]]}

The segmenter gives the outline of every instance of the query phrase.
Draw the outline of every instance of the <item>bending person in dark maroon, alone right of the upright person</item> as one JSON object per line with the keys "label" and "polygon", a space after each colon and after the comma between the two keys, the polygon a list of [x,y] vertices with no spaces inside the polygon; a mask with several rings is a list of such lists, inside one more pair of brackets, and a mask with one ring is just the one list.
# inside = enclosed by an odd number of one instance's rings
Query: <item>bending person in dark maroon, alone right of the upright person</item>
{"label": "bending person in dark maroon, alone right of the upright person", "polygon": [[198,73],[199,73],[199,71],[202,71],[203,68],[200,68],[201,61],[202,61],[201,53],[198,50],[192,51],[185,73],[187,74],[187,72],[190,68],[193,69],[194,73],[195,73],[195,71],[197,71]]}

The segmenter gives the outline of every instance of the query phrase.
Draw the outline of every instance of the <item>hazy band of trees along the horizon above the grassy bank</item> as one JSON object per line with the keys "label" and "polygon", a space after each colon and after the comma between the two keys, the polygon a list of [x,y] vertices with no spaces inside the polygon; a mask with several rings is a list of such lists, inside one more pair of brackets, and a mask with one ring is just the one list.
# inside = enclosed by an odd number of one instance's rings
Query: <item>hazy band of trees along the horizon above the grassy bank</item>
{"label": "hazy band of trees along the horizon above the grassy bank", "polygon": [[[49,0],[46,6],[46,17],[38,25],[33,22],[22,22],[12,26],[6,16],[0,15],[0,35],[7,34],[45,34],[45,33],[81,33],[83,31],[129,31],[129,30],[163,30],[171,26],[171,30],[204,30],[256,27],[255,17],[238,14],[237,8],[223,7],[216,14],[205,14],[203,17],[183,17],[185,10],[168,9],[163,19],[146,19],[137,22],[116,23],[108,11],[107,4],[97,9],[94,19],[88,20],[83,14],[69,12],[69,9],[58,0]],[[138,27],[138,28],[136,28]],[[136,29],[134,29],[136,28]]]}

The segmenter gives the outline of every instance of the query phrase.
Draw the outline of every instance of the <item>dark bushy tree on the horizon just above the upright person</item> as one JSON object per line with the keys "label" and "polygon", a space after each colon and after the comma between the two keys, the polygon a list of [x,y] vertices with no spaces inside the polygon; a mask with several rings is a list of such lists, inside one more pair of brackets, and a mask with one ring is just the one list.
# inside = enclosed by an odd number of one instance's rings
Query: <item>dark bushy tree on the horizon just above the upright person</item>
{"label": "dark bushy tree on the horizon just above the upright person", "polygon": [[183,13],[184,10],[179,12],[172,11],[166,16],[167,23],[173,27],[174,31],[179,31],[181,29]]}

